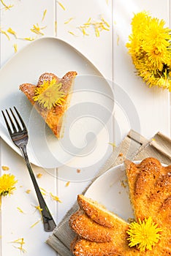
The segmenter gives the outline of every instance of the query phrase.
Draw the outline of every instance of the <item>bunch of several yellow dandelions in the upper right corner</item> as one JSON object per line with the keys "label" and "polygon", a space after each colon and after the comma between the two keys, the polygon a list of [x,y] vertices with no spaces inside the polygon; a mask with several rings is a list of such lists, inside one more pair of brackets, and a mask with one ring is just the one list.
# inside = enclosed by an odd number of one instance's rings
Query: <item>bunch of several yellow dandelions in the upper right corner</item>
{"label": "bunch of several yellow dandelions in the upper right corner", "polygon": [[132,18],[132,34],[126,47],[132,56],[137,75],[149,87],[171,91],[171,30],[164,20],[139,12]]}

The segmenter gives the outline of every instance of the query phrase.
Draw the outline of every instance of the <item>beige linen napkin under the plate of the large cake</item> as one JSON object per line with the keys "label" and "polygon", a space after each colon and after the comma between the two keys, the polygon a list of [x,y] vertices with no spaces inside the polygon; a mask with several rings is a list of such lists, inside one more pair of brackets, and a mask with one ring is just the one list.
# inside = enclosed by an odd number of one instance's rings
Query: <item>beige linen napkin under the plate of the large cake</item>
{"label": "beige linen napkin under the plate of the large cake", "polygon": [[[125,158],[130,160],[142,160],[146,157],[156,157],[160,162],[170,165],[170,138],[167,138],[161,134],[161,132],[158,132],[151,140],[147,140],[137,132],[131,130],[121,144],[115,148],[115,151],[113,151],[113,154],[107,159],[107,162],[101,170],[99,170],[98,176],[109,170],[111,167],[120,165]],[[97,176],[91,181],[89,186],[96,178]],[[86,192],[86,189],[84,192]],[[72,239],[75,238],[75,233],[69,227],[69,218],[71,214],[77,211],[77,208],[77,202],[75,202],[75,205],[66,213],[64,219],[62,219],[61,223],[53,231],[53,234],[47,239],[47,244],[52,246],[61,256],[72,256],[69,246]]]}

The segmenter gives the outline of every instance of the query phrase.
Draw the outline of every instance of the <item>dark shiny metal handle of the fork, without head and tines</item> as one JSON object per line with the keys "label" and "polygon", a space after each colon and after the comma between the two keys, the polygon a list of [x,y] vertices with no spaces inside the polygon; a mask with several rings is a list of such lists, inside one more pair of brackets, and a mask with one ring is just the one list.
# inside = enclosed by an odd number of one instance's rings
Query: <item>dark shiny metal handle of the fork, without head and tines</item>
{"label": "dark shiny metal handle of the fork, without head and tines", "polygon": [[47,208],[45,200],[42,197],[42,193],[39,190],[39,186],[37,184],[37,180],[36,180],[36,178],[34,176],[34,172],[33,172],[32,168],[31,168],[30,162],[28,160],[28,154],[27,154],[27,151],[26,151],[26,146],[20,147],[20,151],[21,151],[21,153],[23,155],[23,158],[24,158],[24,160],[26,162],[26,166],[27,166],[28,172],[29,172],[29,174],[31,176],[31,180],[33,181],[34,189],[35,189],[35,191],[37,193],[37,198],[39,200],[39,206],[42,209],[41,212],[42,212],[42,219],[43,219],[44,229],[45,229],[46,232],[53,231],[54,228],[56,227],[56,223],[54,222],[53,217],[50,214],[49,209]]}

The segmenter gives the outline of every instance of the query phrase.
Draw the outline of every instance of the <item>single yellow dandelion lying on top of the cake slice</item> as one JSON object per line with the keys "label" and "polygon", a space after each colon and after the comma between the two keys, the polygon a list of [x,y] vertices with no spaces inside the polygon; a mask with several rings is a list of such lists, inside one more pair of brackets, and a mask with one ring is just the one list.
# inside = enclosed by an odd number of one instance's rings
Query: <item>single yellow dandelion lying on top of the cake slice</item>
{"label": "single yellow dandelion lying on top of the cake slice", "polygon": [[56,79],[43,81],[43,84],[37,87],[33,97],[35,102],[42,105],[43,108],[53,108],[56,105],[61,105],[64,102],[65,93],[61,90],[62,83],[57,83]]}

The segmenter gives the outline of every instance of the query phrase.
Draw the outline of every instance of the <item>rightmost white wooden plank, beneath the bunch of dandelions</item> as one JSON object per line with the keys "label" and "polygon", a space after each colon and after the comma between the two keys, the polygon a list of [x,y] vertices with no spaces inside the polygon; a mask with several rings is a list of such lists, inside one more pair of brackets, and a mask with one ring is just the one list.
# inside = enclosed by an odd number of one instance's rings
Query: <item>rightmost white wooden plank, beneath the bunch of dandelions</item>
{"label": "rightmost white wooden plank, beneath the bunch of dandelions", "polygon": [[[113,0],[113,23],[115,24],[113,27],[113,73],[117,84],[115,94],[118,100],[115,108],[117,142],[129,129],[135,129],[147,138],[151,138],[159,130],[166,135],[170,133],[168,91],[158,88],[149,89],[145,83],[142,83],[141,78],[135,75],[134,65],[126,48],[134,13],[149,11],[154,17],[163,18],[168,26],[168,3],[169,1],[155,0],[126,2]],[[127,100],[126,104],[125,100]],[[118,138],[117,135],[121,136]]]}

